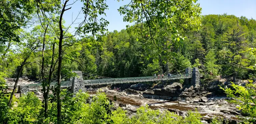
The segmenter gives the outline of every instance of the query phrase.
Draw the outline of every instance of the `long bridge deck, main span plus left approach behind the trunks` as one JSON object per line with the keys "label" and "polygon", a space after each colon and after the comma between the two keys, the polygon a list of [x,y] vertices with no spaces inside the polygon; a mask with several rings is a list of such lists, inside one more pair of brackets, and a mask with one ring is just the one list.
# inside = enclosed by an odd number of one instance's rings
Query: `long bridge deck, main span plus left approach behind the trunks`
{"label": "long bridge deck, main span plus left approach behind the trunks", "polygon": [[[175,79],[187,79],[191,78],[191,75],[181,74],[181,75],[171,75],[170,77],[132,77],[132,78],[109,78],[109,79],[95,79],[95,80],[84,80],[86,86],[90,85],[108,85],[108,84],[122,84],[122,83],[138,83],[138,82],[152,82],[152,81],[160,81],[160,80],[175,80]],[[52,86],[56,86],[57,82],[52,82]],[[71,87],[72,81],[62,81],[61,88]],[[13,86],[8,86],[8,88]],[[30,84],[29,91],[42,90],[41,84]]]}

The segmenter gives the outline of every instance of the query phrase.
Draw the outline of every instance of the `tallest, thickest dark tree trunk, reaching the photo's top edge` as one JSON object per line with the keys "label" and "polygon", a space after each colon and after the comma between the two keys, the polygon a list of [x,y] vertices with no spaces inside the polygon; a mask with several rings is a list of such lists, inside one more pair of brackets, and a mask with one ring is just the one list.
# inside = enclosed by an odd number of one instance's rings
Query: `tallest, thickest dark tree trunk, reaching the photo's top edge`
{"label": "tallest, thickest dark tree trunk, reaching the photo's top edge", "polygon": [[59,37],[59,63],[58,63],[58,72],[57,72],[57,124],[61,124],[61,99],[60,99],[60,83],[61,83],[61,63],[62,63],[62,40],[63,40],[63,29],[62,29],[62,16],[64,11],[70,9],[66,9],[66,4],[69,0],[66,0],[64,6],[62,8],[59,20],[59,28],[60,28],[60,37]]}

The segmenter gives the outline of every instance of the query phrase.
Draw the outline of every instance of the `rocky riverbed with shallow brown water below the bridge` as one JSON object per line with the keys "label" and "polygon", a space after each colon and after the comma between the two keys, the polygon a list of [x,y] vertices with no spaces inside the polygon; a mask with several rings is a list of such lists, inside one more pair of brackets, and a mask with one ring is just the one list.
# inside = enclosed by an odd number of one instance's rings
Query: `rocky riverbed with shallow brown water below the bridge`
{"label": "rocky riverbed with shallow brown water below the bridge", "polygon": [[[128,114],[132,115],[136,112],[136,108],[148,105],[152,109],[159,109],[160,111],[169,110],[181,116],[186,116],[189,110],[197,111],[203,117],[205,123],[210,123],[213,117],[223,117],[229,120],[230,124],[240,122],[239,117],[243,117],[240,111],[236,109],[235,104],[228,103],[226,97],[212,97],[207,98],[178,98],[177,100],[154,99],[143,97],[143,92],[131,93],[131,90],[124,90],[117,92],[110,90],[107,87],[98,89],[97,91],[90,91],[90,94],[96,92],[104,92],[114,102],[115,108],[122,107],[128,110]],[[114,96],[117,100],[114,101]]]}

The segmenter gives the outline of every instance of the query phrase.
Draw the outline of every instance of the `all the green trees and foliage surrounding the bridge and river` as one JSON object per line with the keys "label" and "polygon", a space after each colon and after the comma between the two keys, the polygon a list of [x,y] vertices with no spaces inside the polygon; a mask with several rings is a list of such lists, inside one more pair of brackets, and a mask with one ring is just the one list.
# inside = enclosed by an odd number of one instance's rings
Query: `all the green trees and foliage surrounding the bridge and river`
{"label": "all the green trees and foliage surrounding the bridge and river", "polygon": [[[98,79],[167,75],[198,67],[205,81],[256,78],[255,19],[225,13],[201,15],[196,0],[132,0],[117,11],[125,22],[134,25],[108,31],[109,22],[100,18],[106,15],[106,1],[81,0],[84,6],[79,14],[83,19],[71,32],[74,22],[65,27],[62,16],[72,11],[74,2],[79,1],[0,1],[0,123],[201,123],[196,112],[190,111],[183,119],[148,106],[128,117],[121,108],[113,110],[104,93],[91,98],[88,93],[78,93],[73,97],[60,89],[61,81],[75,75],[72,71],[88,73],[86,79]],[[34,93],[16,98],[20,77],[40,81],[44,100]],[[16,79],[10,93],[4,90],[6,78]],[[51,92],[52,80],[58,83]],[[229,97],[243,94],[238,100],[243,101],[243,111],[250,110],[253,122],[256,112],[251,103],[256,103],[256,86],[233,87],[224,90]],[[221,122],[215,119],[212,123]]]}

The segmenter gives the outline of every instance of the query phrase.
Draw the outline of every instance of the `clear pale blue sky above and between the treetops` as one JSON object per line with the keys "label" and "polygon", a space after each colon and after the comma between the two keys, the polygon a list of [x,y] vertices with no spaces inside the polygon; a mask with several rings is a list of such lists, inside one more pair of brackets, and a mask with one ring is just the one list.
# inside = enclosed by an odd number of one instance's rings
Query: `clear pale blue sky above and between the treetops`
{"label": "clear pale blue sky above and between the treetops", "polygon": [[[72,3],[73,0],[69,1],[69,4]],[[106,10],[106,20],[109,21],[109,25],[107,29],[109,31],[120,31],[126,28],[126,25],[129,25],[127,22],[123,22],[123,15],[120,16],[117,9],[120,6],[128,4],[130,0],[124,0],[118,2],[117,0],[107,0],[107,5],[109,9]],[[256,0],[199,0],[197,3],[200,3],[200,7],[202,8],[202,15],[209,14],[224,14],[235,15],[237,17],[245,16],[247,18],[256,19]],[[65,26],[68,26],[72,23],[72,13],[73,20],[78,15],[78,12],[81,10],[82,3],[78,0],[72,8],[64,13],[63,19],[65,20]],[[78,18],[82,18],[79,16]],[[82,19],[77,20],[75,23],[81,22]],[[74,27],[77,25],[72,25],[69,30],[72,32]]]}

